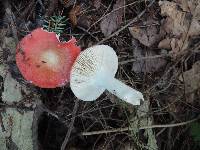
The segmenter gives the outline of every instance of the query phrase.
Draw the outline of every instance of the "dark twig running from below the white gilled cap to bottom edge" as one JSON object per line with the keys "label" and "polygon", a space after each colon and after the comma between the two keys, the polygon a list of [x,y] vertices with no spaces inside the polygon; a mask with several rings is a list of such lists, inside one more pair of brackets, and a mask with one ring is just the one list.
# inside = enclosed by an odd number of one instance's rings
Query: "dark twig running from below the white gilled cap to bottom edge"
{"label": "dark twig running from below the white gilled cap to bottom edge", "polygon": [[78,109],[78,99],[75,99],[75,105],[74,105],[74,109],[73,109],[73,112],[72,112],[72,119],[71,119],[71,122],[70,122],[70,125],[69,125],[69,129],[67,131],[67,134],[65,136],[65,139],[62,143],[61,150],[65,150],[66,145],[69,141],[69,137],[70,137],[70,134],[72,132],[74,121],[75,121],[75,118],[76,118],[75,115],[76,115],[77,109]]}

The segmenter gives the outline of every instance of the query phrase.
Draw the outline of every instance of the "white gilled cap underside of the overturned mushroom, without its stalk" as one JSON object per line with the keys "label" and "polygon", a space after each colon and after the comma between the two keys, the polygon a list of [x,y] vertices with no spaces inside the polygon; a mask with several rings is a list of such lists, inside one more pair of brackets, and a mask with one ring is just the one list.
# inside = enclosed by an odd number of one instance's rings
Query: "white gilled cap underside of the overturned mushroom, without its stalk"
{"label": "white gilled cap underside of the overturned mushroom, without its stalk", "polygon": [[81,100],[95,100],[105,91],[103,78],[114,77],[117,69],[118,58],[113,48],[107,45],[87,48],[72,66],[71,89]]}

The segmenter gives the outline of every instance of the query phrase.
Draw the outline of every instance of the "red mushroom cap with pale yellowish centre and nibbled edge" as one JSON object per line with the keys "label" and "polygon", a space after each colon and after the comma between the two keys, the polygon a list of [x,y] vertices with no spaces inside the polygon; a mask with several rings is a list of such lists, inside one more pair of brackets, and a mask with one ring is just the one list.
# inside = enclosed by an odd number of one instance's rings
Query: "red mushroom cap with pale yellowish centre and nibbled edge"
{"label": "red mushroom cap with pale yellowish centre and nibbled edge", "polygon": [[41,88],[55,88],[69,82],[79,53],[75,38],[60,42],[54,32],[37,28],[17,45],[16,64],[29,82]]}

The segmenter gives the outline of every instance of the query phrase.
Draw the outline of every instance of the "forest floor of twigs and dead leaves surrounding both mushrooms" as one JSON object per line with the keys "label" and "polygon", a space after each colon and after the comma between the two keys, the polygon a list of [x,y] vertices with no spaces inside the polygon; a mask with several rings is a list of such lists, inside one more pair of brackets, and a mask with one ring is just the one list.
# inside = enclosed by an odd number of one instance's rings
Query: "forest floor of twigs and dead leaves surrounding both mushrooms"
{"label": "forest floor of twigs and dead leaves surrounding both mushrooms", "polygon": [[[0,149],[200,149],[200,0],[0,0],[0,7]],[[60,41],[75,37],[81,51],[111,46],[115,77],[145,101],[132,106],[105,91],[86,102],[69,84],[26,81],[16,45],[36,28]]]}

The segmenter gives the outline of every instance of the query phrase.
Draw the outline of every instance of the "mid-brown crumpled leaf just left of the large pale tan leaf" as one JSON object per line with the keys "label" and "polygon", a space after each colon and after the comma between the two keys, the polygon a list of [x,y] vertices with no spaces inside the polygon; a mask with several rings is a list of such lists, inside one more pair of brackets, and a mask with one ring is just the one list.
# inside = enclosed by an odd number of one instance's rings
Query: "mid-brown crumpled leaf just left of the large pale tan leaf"
{"label": "mid-brown crumpled leaf just left of the large pale tan leaf", "polygon": [[[143,21],[144,24],[144,21]],[[159,29],[156,27],[156,24],[158,24],[157,21],[154,21],[152,19],[148,19],[145,22],[142,27],[139,26],[133,26],[129,27],[129,31],[131,35],[140,41],[143,45],[150,47],[156,42],[159,42],[162,38],[162,33],[159,31]]]}

